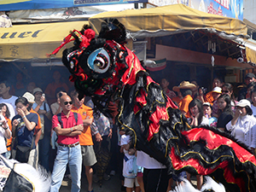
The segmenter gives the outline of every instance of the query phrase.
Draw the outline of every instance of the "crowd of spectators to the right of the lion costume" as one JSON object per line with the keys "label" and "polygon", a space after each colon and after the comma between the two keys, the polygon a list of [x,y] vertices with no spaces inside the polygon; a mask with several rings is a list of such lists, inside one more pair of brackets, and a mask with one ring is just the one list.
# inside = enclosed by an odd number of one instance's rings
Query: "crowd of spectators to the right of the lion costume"
{"label": "crowd of spectators to the right of the lion costume", "polygon": [[[233,85],[215,78],[212,90],[205,93],[195,80],[183,81],[172,90],[178,97],[172,97],[190,126],[210,125],[235,137],[255,154],[256,147],[256,78],[253,73],[245,76],[245,86],[236,96]],[[162,86],[162,84],[160,84]],[[165,89],[164,89],[165,90]],[[165,91],[169,91],[166,88]],[[166,94],[169,96],[168,94]],[[187,172],[190,180],[190,174]],[[186,176],[183,176],[186,177]],[[197,189],[201,189],[202,176],[196,176]],[[172,178],[170,179],[172,180]],[[172,182],[170,182],[172,183]],[[168,189],[171,189],[170,186]]]}

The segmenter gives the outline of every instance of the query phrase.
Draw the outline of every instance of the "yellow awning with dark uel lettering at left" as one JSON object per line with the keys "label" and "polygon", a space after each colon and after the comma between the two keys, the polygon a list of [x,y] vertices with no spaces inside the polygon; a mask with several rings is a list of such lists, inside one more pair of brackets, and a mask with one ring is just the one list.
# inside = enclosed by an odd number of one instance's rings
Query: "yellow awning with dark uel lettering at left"
{"label": "yellow awning with dark uel lettering at left", "polygon": [[[0,28],[0,59],[3,60],[30,60],[46,59],[61,45],[73,29],[81,30],[88,21],[58,22],[44,24],[17,25],[9,28]],[[67,44],[63,49],[72,46]],[[55,56],[61,58],[62,50]]]}

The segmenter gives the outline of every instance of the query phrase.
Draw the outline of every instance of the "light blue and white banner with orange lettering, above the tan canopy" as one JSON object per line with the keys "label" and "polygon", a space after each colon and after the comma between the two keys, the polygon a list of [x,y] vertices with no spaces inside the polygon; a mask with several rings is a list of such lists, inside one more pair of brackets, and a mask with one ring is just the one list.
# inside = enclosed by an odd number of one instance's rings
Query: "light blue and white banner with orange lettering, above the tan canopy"
{"label": "light blue and white banner with orange lettering, above the tan canopy", "polygon": [[157,6],[182,3],[208,14],[243,20],[243,0],[148,0]]}

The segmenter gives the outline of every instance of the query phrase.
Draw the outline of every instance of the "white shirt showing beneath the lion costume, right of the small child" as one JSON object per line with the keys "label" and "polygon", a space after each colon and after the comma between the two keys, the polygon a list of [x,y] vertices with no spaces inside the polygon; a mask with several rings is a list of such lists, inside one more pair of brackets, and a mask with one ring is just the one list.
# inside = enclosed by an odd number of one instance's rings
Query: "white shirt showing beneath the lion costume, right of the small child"
{"label": "white shirt showing beneath the lion costume, right of the small child", "polygon": [[137,151],[137,166],[142,166],[146,169],[165,169],[166,166],[159,161],[154,160],[148,154],[143,151]]}

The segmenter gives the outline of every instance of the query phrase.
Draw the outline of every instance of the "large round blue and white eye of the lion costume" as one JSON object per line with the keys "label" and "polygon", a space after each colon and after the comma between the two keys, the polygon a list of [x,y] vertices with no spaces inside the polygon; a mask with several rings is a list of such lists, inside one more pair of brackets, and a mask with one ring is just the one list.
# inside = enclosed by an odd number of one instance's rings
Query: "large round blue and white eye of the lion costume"
{"label": "large round blue and white eye of the lion costume", "polygon": [[93,51],[88,59],[88,66],[96,73],[105,73],[110,67],[110,58],[106,49],[100,48]]}

